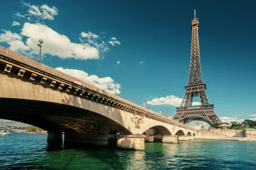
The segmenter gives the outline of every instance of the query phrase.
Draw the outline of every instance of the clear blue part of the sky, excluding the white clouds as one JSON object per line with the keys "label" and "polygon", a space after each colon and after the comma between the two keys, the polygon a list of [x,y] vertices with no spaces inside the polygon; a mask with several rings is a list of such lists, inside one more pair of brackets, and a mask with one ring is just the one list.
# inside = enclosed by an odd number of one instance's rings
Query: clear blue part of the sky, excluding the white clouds
{"label": "clear blue part of the sky, excluding the white clouds", "polygon": [[[1,29],[11,27],[13,14],[25,12],[16,0],[1,2]],[[58,8],[54,21],[44,24],[79,43],[81,31],[116,37],[104,59],[75,60],[47,57],[52,68],[79,69],[121,84],[119,96],[137,104],[145,98],[175,95],[182,98],[189,74],[191,20],[199,18],[199,44],[207,96],[219,117],[251,118],[256,114],[256,10],[255,1],[163,1],[163,0],[44,0],[32,4]],[[26,20],[18,20],[21,25]],[[5,43],[0,45],[8,47]],[[120,61],[116,65],[116,61]],[[143,64],[139,64],[143,61]],[[221,99],[223,98],[223,99]],[[152,106],[165,115],[175,107]]]}

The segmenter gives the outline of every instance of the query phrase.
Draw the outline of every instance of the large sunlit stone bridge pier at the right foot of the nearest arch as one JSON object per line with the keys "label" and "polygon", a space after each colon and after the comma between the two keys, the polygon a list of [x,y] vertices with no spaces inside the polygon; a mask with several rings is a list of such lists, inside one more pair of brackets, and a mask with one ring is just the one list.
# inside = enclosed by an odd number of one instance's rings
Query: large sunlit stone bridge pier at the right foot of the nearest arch
{"label": "large sunlit stone bridge pier at the right foot of the nearest arch", "polygon": [[145,135],[117,135],[117,147],[144,150],[145,149]]}

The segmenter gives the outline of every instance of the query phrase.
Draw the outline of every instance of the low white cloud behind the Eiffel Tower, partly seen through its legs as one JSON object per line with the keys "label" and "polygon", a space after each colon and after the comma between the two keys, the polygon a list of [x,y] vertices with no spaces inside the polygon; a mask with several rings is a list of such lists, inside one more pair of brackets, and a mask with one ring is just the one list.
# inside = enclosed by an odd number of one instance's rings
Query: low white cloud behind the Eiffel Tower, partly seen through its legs
{"label": "low white cloud behind the Eiffel Tower, partly seen through its legs", "polygon": [[[166,97],[160,97],[160,98],[154,98],[151,101],[148,101],[147,104],[149,105],[171,105],[178,107],[180,106],[182,99],[171,95],[171,96],[166,96]],[[192,105],[201,105],[200,102],[193,102]]]}

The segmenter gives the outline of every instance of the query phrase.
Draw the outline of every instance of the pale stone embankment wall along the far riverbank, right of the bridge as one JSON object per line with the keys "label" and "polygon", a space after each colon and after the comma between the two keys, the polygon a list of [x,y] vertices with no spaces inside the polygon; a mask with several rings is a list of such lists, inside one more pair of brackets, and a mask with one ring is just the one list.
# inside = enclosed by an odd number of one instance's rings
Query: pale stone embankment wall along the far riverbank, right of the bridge
{"label": "pale stone embankment wall along the far riverbank, right of the bridge", "polygon": [[198,137],[201,138],[228,138],[243,136],[245,136],[245,130],[203,130],[198,134]]}

